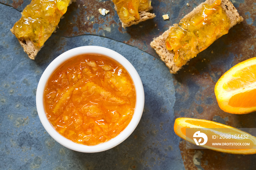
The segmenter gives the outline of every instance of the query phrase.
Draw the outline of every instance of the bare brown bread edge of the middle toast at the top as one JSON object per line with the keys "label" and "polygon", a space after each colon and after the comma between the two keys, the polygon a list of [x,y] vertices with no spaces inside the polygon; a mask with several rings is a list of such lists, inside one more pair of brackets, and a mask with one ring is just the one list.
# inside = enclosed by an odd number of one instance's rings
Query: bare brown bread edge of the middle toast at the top
{"label": "bare brown bread edge of the middle toast at the top", "polygon": [[[115,5],[115,9],[116,9],[116,11],[117,11],[116,5]],[[150,6],[149,6],[145,11],[139,11],[139,15],[140,15],[140,19],[139,19],[139,20],[135,20],[135,21],[130,21],[130,22],[128,22],[128,23],[124,23],[124,22],[122,22],[121,19],[119,18],[120,21],[121,21],[121,23],[122,23],[122,27],[123,27],[123,28],[129,27],[129,26],[131,26],[131,25],[136,25],[136,24],[138,24],[138,23],[140,23],[140,22],[143,22],[143,21],[146,21],[146,20],[148,20],[148,19],[153,19],[153,18],[155,18],[155,14],[154,14],[154,13],[148,12],[148,11],[150,11],[151,9],[153,9],[153,7],[151,6],[151,0],[150,0]]]}

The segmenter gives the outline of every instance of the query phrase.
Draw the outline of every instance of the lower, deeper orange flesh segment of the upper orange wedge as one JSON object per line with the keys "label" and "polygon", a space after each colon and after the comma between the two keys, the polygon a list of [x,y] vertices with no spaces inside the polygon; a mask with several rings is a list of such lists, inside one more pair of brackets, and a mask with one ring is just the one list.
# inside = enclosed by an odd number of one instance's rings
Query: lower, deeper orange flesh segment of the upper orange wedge
{"label": "lower, deeper orange flesh segment of the upper orange wedge", "polygon": [[231,107],[252,108],[256,107],[256,89],[244,93],[238,93],[229,100]]}

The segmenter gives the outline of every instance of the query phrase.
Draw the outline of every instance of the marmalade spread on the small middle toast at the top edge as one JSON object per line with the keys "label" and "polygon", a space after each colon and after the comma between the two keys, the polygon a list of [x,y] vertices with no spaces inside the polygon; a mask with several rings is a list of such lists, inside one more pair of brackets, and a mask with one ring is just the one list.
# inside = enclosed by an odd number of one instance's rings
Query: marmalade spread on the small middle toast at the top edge
{"label": "marmalade spread on the small middle toast at the top edge", "polygon": [[113,3],[123,23],[139,20],[139,12],[146,11],[151,5],[149,0],[113,0]]}

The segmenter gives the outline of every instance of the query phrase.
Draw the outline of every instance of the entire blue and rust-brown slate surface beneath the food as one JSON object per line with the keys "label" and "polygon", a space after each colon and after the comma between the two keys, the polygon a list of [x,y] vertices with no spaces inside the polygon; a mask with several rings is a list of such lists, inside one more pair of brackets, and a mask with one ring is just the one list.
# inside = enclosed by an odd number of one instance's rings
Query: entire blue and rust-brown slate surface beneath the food
{"label": "entire blue and rust-brown slate surface beneath the food", "polygon": [[[110,0],[77,0],[32,61],[10,32],[30,0],[0,0],[0,169],[255,169],[255,155],[186,150],[173,131],[177,117],[256,127],[255,113],[225,113],[214,95],[215,83],[223,73],[256,57],[255,0],[232,0],[244,22],[178,74],[169,74],[149,45],[202,2],[152,0],[157,17],[124,29]],[[110,12],[101,16],[98,8]],[[163,20],[163,14],[170,19]],[[94,154],[72,151],[55,142],[42,127],[35,107],[44,69],[64,51],[85,45],[108,47],[124,55],[138,71],[145,90],[144,113],[133,134],[117,147]]]}

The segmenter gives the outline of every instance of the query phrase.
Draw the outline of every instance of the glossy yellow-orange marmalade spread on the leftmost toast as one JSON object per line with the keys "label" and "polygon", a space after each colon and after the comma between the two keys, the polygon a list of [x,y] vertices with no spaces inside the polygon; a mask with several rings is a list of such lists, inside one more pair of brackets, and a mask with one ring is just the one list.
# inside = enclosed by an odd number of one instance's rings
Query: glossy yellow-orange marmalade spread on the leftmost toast
{"label": "glossy yellow-orange marmalade spread on the leftmost toast", "polygon": [[41,47],[52,35],[67,11],[70,0],[32,0],[22,12],[22,17],[15,23],[16,38],[30,39]]}

